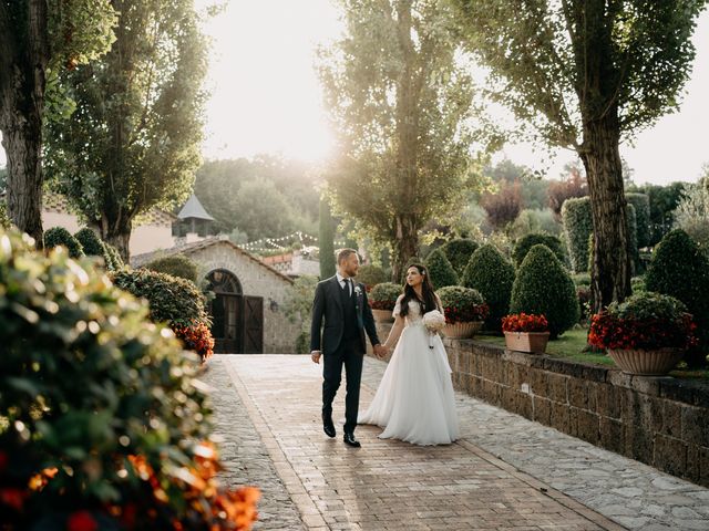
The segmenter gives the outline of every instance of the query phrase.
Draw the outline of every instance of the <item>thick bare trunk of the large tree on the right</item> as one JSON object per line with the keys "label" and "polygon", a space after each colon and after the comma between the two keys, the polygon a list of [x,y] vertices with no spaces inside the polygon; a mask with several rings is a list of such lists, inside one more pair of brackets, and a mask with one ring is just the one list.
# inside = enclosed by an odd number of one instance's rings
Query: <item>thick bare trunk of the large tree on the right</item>
{"label": "thick bare trunk of the large tree on the right", "polygon": [[595,235],[590,272],[594,313],[630,294],[626,200],[618,144],[617,110],[584,124],[580,157],[588,177]]}

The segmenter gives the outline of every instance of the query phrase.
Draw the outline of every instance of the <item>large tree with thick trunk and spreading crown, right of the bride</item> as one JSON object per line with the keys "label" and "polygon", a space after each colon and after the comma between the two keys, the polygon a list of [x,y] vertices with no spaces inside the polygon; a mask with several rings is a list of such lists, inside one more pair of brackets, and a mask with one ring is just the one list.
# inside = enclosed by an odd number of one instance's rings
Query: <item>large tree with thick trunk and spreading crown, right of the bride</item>
{"label": "large tree with thick trunk and spreading crown, right of the bride", "polygon": [[706,0],[452,0],[464,40],[500,82],[493,96],[588,178],[595,310],[630,292],[618,145],[678,106]]}

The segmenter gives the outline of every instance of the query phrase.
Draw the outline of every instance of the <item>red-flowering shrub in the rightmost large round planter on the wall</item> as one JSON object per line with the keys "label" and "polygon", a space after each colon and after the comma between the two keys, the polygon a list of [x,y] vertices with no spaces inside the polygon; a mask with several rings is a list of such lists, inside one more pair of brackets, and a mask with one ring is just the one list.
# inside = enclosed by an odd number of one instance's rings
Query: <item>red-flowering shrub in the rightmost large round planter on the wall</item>
{"label": "red-flowering shrub in the rightmost large round planter on the wall", "polygon": [[696,327],[677,299],[641,292],[595,314],[588,343],[599,348],[688,348],[696,343]]}

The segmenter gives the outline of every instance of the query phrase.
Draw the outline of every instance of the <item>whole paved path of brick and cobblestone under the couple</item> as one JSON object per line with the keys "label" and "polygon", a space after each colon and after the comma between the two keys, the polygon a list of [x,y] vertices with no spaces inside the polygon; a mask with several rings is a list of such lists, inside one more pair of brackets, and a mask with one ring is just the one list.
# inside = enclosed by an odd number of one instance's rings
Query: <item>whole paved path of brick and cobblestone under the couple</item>
{"label": "whole paved path of brick and cobblestone under the couple", "polygon": [[[384,368],[366,358],[361,407]],[[255,529],[709,530],[709,490],[464,394],[456,444],[379,440],[360,426],[358,450],[341,423],[337,439],[322,434],[308,356],[220,355],[204,379],[226,480],[263,490]]]}

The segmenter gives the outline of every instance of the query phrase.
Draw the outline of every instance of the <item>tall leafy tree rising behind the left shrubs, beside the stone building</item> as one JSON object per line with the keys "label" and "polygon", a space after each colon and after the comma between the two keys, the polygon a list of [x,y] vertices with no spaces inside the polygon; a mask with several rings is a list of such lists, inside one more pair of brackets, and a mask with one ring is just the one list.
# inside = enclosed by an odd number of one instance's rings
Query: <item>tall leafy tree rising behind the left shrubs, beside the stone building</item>
{"label": "tall leafy tree rising behind the left shrubs, beside the stone building", "polygon": [[116,41],[68,71],[76,111],[48,131],[48,174],[101,238],[129,257],[136,216],[192,192],[207,61],[194,0],[113,0]]}

